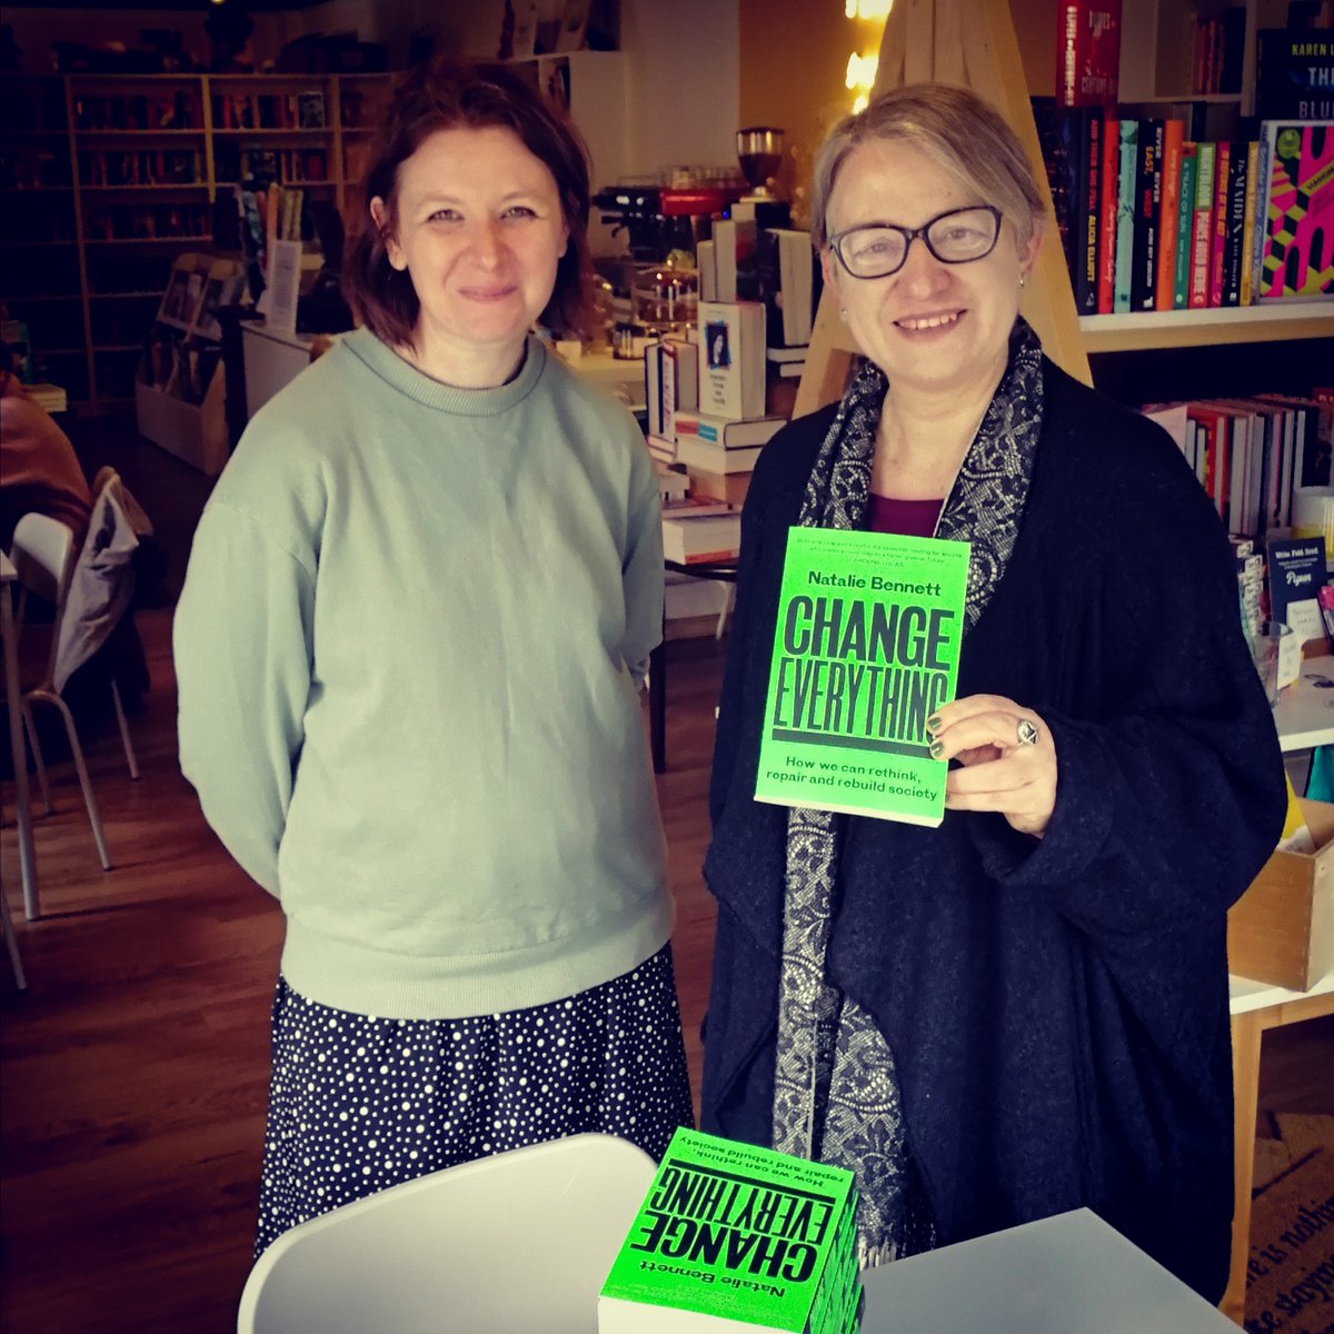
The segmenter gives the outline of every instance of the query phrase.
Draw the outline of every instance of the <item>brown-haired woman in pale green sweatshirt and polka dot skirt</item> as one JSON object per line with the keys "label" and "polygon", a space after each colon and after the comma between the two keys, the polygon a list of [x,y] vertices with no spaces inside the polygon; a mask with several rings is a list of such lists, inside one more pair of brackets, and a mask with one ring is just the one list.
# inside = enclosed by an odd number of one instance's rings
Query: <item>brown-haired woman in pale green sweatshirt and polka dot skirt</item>
{"label": "brown-haired woman in pale green sweatshirt and polka dot skirt", "polygon": [[347,265],[366,327],[255,416],[195,539],[181,766],[287,915],[256,1251],[691,1121],[639,710],[656,479],[530,332],[576,319],[587,180],[511,72],[406,75]]}

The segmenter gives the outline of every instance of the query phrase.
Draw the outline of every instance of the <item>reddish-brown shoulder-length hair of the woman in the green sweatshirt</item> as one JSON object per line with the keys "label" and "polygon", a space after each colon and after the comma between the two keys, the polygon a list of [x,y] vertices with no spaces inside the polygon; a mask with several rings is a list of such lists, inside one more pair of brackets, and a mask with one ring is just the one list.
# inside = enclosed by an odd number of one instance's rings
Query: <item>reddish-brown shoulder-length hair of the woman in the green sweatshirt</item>
{"label": "reddish-brown shoulder-length hair of the woman in the green sweatshirt", "polygon": [[[390,265],[386,235],[398,227],[399,168],[438,129],[500,127],[555,177],[570,241],[556,264],[556,284],[542,321],[555,332],[584,324],[588,257],[588,151],[579,131],[536,88],[503,65],[432,60],[408,69],[390,89],[371,140],[359,211],[348,220],[343,291],[363,324],[392,347],[412,347],[420,301],[407,273]],[[384,200],[386,227],[371,220],[371,200]]]}

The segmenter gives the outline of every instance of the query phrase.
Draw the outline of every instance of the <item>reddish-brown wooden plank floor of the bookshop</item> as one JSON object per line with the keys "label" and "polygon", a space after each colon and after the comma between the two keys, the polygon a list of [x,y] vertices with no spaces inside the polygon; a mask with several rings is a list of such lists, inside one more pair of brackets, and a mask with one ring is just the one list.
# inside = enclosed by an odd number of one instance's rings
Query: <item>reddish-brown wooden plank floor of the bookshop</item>
{"label": "reddish-brown wooden plank floor of the bookshop", "polygon": [[[145,504],[152,486],[136,487]],[[153,678],[132,723],[141,780],[128,780],[113,732],[88,739],[115,870],[97,867],[63,772],[57,812],[37,822],[43,919],[24,923],[12,818],[0,831],[29,978],[19,995],[0,976],[0,1329],[12,1334],[223,1334],[249,1263],[281,918],[221,851],[176,766],[169,616],[139,616]],[[722,659],[712,640],[670,652],[659,795],[698,1091],[712,938],[699,866]],[[1334,1026],[1271,1034],[1263,1059],[1262,1113],[1331,1109]]]}

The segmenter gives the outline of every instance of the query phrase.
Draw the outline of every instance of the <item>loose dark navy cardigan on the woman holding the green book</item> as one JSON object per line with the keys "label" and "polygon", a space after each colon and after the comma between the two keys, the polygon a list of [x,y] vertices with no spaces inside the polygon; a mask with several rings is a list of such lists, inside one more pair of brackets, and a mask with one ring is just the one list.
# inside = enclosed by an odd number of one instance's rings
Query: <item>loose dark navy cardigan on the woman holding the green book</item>
{"label": "loose dark navy cardigan on the woman holding the green book", "polygon": [[[1019,539],[959,696],[1057,746],[1041,842],[992,814],[844,824],[828,952],[898,1065],[942,1245],[1090,1206],[1217,1299],[1233,1203],[1226,912],[1279,836],[1274,723],[1203,490],[1145,418],[1043,363]],[[719,900],[706,1130],[768,1143],[786,810],[756,748],[787,530],[834,408],[766,446],[742,559],[704,863]]]}

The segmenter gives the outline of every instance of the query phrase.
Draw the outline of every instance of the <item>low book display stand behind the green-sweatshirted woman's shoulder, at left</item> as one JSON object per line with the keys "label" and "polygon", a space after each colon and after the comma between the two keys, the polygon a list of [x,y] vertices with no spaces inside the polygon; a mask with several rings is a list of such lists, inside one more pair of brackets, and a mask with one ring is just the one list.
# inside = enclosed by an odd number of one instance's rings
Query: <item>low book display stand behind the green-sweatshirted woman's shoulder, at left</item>
{"label": "low book display stand behind the green-sweatshirted woman's shoulder, at left", "polygon": [[179,255],[135,379],[139,432],[208,476],[228,456],[219,305],[235,300],[233,259]]}

